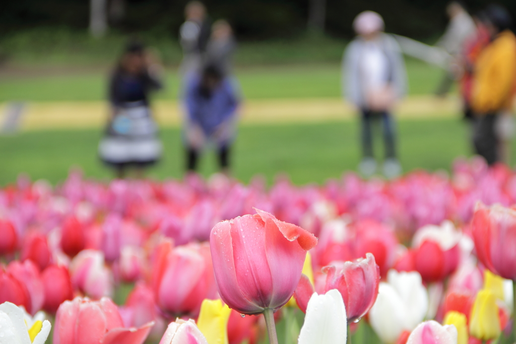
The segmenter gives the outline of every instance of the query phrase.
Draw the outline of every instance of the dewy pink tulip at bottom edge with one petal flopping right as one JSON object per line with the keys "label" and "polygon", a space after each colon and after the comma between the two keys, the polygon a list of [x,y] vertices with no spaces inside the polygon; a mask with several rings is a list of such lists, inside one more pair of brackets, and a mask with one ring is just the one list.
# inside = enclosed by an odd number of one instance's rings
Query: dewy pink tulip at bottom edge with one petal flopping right
{"label": "dewy pink tulip at bottom edge with one petal flopping right", "polygon": [[117,306],[108,298],[90,301],[75,298],[57,310],[54,344],[142,344],[153,323],[126,328]]}

